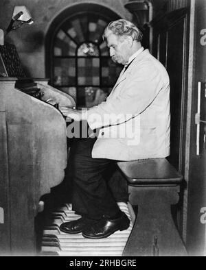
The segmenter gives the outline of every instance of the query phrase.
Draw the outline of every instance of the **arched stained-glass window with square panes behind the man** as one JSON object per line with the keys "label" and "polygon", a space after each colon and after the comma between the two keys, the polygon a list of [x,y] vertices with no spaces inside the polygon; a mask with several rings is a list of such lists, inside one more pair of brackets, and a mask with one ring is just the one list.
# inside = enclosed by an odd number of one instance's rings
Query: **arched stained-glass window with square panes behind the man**
{"label": "arched stained-glass window with square panes behind the man", "polygon": [[109,21],[99,12],[79,12],[60,23],[53,36],[51,84],[73,96],[79,108],[89,107],[98,88],[108,95],[122,70],[102,39]]}

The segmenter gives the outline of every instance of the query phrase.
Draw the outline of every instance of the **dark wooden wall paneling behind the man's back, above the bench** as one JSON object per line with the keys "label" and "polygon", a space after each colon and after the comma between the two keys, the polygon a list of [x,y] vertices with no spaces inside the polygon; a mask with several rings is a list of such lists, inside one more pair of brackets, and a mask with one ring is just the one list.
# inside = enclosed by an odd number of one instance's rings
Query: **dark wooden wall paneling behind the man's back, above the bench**
{"label": "dark wooden wall paneling behind the man's back, above the bench", "polygon": [[170,76],[171,154],[170,162],[183,172],[185,155],[185,118],[187,108],[187,29],[189,10],[183,8],[154,19],[153,54]]}

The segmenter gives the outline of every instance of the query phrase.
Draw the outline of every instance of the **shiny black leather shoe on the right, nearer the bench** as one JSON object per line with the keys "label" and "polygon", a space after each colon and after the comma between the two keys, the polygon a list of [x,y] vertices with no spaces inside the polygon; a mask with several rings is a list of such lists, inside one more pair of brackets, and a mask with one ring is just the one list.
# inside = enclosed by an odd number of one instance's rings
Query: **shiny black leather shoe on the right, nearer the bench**
{"label": "shiny black leather shoe on the right, nearer the bench", "polygon": [[85,238],[106,238],[114,232],[126,230],[130,225],[127,215],[122,212],[122,216],[118,219],[100,219],[97,223],[88,226],[82,231]]}

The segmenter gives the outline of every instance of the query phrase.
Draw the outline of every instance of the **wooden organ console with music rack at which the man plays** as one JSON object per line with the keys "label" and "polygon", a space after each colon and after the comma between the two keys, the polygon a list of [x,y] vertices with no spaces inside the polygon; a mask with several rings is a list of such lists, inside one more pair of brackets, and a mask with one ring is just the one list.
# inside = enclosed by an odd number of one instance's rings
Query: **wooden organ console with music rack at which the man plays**
{"label": "wooden organ console with music rack at which the man plays", "polygon": [[76,104],[47,79],[25,77],[14,45],[0,46],[0,62],[0,254],[35,254],[39,200],[67,166],[57,107]]}

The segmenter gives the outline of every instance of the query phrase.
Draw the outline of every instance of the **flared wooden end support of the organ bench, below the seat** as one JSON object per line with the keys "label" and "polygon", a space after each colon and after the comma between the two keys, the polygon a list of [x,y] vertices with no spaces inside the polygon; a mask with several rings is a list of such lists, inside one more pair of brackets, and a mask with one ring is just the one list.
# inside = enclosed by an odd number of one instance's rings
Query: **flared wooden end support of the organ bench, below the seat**
{"label": "flared wooden end support of the organ bench, below the seat", "polygon": [[123,256],[187,256],[171,214],[179,186],[129,186],[129,193],[138,214]]}

